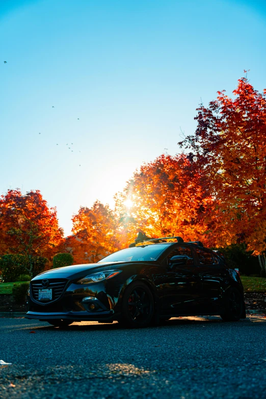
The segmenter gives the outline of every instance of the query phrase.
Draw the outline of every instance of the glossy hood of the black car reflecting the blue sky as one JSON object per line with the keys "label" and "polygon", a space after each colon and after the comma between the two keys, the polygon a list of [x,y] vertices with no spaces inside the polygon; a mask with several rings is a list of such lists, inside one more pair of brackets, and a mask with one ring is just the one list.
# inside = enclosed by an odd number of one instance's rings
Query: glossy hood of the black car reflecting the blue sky
{"label": "glossy hood of the black car reflecting the blue sky", "polygon": [[98,269],[104,268],[105,270],[112,270],[117,265],[124,262],[102,262],[102,263],[84,263],[84,264],[73,264],[72,266],[65,266],[64,268],[57,268],[47,270],[38,276],[34,277],[33,280],[39,280],[40,278],[68,278],[69,276],[74,277],[75,275],[84,274],[83,272],[93,273],[97,272]]}

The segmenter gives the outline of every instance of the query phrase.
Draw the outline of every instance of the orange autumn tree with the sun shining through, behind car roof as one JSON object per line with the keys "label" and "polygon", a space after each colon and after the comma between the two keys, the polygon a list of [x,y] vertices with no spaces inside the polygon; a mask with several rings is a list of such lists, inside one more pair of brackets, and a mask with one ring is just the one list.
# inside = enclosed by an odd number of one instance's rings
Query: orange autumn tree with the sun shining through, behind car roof
{"label": "orange autumn tree with the sun shining through, behind car roof", "polygon": [[[204,176],[195,172],[186,155],[161,155],[141,166],[123,193],[116,195],[116,211],[120,216],[127,242],[138,231],[152,237],[181,235],[185,240],[211,239],[210,226],[203,214],[212,207],[202,184]],[[211,222],[210,222],[211,223]]]}

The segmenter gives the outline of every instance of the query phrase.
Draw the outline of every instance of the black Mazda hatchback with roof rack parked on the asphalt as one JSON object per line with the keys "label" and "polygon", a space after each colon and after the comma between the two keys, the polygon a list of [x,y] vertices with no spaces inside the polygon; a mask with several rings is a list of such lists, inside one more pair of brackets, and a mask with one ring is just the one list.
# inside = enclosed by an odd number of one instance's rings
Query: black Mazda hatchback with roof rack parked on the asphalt
{"label": "black Mazda hatchback with roof rack parked on the asphalt", "polygon": [[[53,269],[30,283],[26,318],[68,326],[118,321],[146,327],[176,316],[246,317],[240,275],[200,242],[145,240],[97,263]],[[141,242],[140,242],[141,241]]]}

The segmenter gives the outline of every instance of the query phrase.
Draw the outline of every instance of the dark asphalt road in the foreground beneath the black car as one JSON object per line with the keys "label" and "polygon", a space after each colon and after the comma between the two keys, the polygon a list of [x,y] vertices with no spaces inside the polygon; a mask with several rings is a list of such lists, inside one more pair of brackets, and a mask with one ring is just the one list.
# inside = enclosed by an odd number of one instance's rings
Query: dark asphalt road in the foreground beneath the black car
{"label": "dark asphalt road in the foreground beneath the black car", "polygon": [[[31,333],[35,331],[35,333]],[[0,319],[1,399],[266,398],[266,317],[124,330]]]}

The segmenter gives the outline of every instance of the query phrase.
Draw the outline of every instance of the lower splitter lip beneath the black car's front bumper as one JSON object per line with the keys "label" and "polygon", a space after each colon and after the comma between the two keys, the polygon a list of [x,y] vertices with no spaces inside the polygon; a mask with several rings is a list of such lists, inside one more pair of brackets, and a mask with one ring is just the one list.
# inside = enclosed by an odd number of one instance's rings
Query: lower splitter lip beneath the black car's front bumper
{"label": "lower splitter lip beneath the black car's front bumper", "polygon": [[34,319],[34,320],[73,320],[78,322],[98,322],[98,321],[111,321],[116,320],[116,317],[119,316],[117,313],[114,314],[113,311],[107,312],[94,312],[88,314],[88,312],[27,312],[25,318]]}

